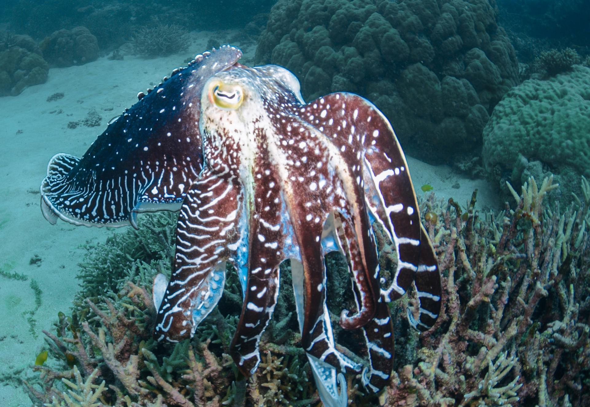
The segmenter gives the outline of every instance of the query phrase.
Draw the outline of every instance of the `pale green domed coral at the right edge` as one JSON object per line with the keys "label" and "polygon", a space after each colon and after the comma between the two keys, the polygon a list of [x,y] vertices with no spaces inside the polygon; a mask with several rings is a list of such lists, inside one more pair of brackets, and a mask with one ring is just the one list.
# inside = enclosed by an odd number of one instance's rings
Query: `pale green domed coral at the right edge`
{"label": "pale green domed coral at the right edge", "polygon": [[519,154],[556,173],[590,177],[590,68],[574,65],[570,73],[527,80],[504,95],[483,131],[484,165],[501,176]]}

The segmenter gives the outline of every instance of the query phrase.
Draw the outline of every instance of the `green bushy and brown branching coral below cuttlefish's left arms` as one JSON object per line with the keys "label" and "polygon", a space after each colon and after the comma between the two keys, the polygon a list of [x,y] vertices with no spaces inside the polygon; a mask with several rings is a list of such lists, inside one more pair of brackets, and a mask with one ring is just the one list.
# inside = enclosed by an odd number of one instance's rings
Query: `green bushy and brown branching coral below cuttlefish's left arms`
{"label": "green bushy and brown branching coral below cuttlefish's left arms", "polygon": [[[225,354],[241,310],[234,271],[219,303],[226,317],[214,311],[192,342],[154,342],[155,309],[148,290],[156,273],[171,272],[175,214],[145,216],[139,226],[88,247],[71,316],[60,313],[55,333],[44,331],[53,363],[35,366],[40,376],[24,381],[35,405],[212,407],[248,400],[270,407],[301,397],[319,401],[304,352],[294,346],[300,336],[285,329],[294,320],[292,310],[277,309],[281,319],[270,324],[261,342],[264,357],[257,375],[248,385],[238,375]],[[101,380],[104,385],[95,383]],[[70,404],[73,399],[78,404]]]}

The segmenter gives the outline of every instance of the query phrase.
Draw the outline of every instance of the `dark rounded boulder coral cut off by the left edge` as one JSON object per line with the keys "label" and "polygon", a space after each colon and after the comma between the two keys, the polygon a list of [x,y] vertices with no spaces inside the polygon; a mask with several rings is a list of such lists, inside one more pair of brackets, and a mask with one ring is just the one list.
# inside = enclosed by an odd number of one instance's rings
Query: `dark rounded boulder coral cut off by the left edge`
{"label": "dark rounded boulder coral cut off by the left edge", "polygon": [[0,96],[17,96],[29,86],[45,83],[48,72],[47,62],[28,35],[0,42]]}

